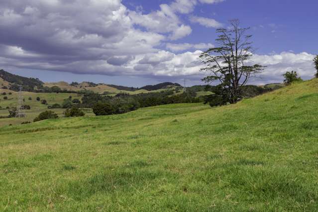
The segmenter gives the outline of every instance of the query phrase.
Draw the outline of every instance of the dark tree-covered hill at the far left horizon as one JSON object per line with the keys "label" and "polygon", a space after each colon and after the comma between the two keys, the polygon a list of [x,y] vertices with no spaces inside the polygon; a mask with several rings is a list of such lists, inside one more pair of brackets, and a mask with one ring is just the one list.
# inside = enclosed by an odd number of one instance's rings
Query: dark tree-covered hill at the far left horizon
{"label": "dark tree-covered hill at the far left horizon", "polygon": [[34,89],[39,89],[43,86],[43,82],[39,79],[21,77],[15,74],[11,74],[9,72],[0,70],[0,78],[4,81],[7,81],[10,84],[10,90],[18,91],[19,86],[22,85],[23,91],[34,91]]}

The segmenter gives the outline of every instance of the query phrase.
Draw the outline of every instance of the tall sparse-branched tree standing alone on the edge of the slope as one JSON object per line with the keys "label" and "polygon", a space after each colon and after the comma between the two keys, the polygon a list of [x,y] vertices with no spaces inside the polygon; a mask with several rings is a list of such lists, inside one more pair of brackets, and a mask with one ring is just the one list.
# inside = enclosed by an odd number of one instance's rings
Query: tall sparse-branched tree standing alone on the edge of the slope
{"label": "tall sparse-branched tree standing alone on the edge of the slope", "polygon": [[249,28],[241,28],[237,19],[229,23],[228,29],[216,29],[216,47],[203,52],[200,58],[206,65],[201,71],[212,73],[202,80],[206,83],[219,81],[227,101],[234,104],[241,98],[242,87],[248,79],[263,71],[264,66],[246,65],[253,55],[251,35],[246,34]]}

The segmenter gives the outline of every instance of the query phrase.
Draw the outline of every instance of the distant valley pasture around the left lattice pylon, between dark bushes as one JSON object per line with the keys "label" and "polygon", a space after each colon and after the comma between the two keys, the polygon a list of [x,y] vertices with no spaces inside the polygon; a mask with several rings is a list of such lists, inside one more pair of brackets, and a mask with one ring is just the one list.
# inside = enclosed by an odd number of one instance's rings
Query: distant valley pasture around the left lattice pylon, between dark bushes
{"label": "distant valley pasture around the left lattice pylon, between dark bushes", "polygon": [[[9,114],[8,109],[6,107],[14,107],[17,106],[18,102],[18,92],[9,91],[0,89],[0,94],[5,92],[7,95],[5,95],[8,99],[3,100],[3,95],[0,95],[0,116],[6,116]],[[11,92],[11,95],[8,95],[8,93]],[[45,110],[52,110],[56,112],[59,116],[63,116],[63,111],[65,109],[48,109],[47,105],[43,105],[40,103],[40,101],[36,101],[36,98],[39,97],[41,100],[44,99],[48,102],[48,105],[53,104],[62,104],[63,100],[69,98],[72,96],[73,99],[82,99],[82,95],[79,94],[68,94],[68,93],[31,93],[31,92],[22,92],[22,96],[24,99],[23,104],[31,106],[31,109],[25,110],[26,117],[24,118],[0,118],[0,126],[9,125],[9,124],[19,124],[24,121],[33,121],[33,119],[40,113]],[[29,97],[31,97],[31,100],[29,100]],[[92,112],[92,109],[86,109],[86,115],[94,115]]]}

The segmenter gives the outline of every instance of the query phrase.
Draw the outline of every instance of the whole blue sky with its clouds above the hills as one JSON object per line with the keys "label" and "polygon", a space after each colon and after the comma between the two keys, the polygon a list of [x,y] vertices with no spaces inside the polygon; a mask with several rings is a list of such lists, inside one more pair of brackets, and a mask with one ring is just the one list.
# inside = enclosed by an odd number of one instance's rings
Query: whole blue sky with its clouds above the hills
{"label": "whole blue sky with its clouds above the hills", "polygon": [[250,27],[250,84],[314,76],[317,0],[0,0],[0,69],[45,82],[202,84],[215,29]]}

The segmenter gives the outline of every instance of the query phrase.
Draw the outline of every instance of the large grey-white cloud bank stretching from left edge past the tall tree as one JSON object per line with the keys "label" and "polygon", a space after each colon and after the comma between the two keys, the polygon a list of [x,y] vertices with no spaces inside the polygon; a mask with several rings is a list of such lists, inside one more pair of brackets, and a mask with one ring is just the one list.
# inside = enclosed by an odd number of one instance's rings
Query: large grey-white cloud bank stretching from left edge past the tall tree
{"label": "large grey-white cloud bank stretching from left edge past the tall tree", "polygon": [[[143,13],[127,9],[121,0],[1,0],[0,68],[199,80],[205,74],[200,72],[201,50],[213,44],[171,40],[192,32],[179,13],[191,13],[198,3],[220,1],[175,0]],[[204,17],[191,20],[221,26]],[[254,55],[254,63],[267,65],[254,82],[281,82],[282,74],[291,70],[310,79],[313,57],[292,52]]]}

